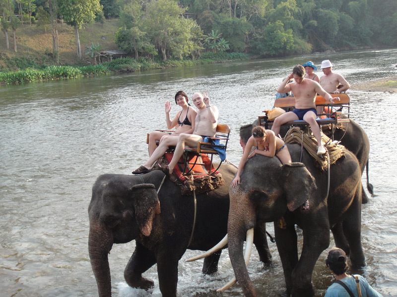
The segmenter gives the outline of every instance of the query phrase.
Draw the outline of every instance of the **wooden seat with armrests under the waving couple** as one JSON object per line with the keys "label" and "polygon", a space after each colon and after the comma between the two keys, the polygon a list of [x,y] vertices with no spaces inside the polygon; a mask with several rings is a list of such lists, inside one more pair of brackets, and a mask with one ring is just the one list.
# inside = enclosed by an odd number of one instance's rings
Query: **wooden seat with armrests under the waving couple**
{"label": "wooden seat with armrests under the waving couple", "polygon": [[[203,165],[203,163],[200,161],[201,153],[211,155],[211,163],[210,163],[209,168],[212,168],[213,156],[214,155],[219,156],[219,152],[215,148],[223,149],[226,152],[227,142],[229,141],[229,135],[230,135],[230,127],[228,125],[218,124],[216,126],[215,136],[209,137],[209,139],[212,141],[219,140],[220,144],[213,144],[213,143],[209,143],[209,142],[199,142],[199,144],[196,148],[186,147],[185,151],[184,151],[185,164],[184,164],[184,170],[182,172],[184,172],[185,175],[187,175],[187,174],[191,173],[192,168],[194,168],[195,165]],[[190,155],[192,155],[192,154],[195,157],[191,158],[191,161],[188,161],[190,159],[189,158]],[[222,160],[220,160],[218,167],[214,171],[210,170],[208,172],[208,175],[214,174],[219,169],[221,164],[222,164]],[[186,170],[188,167],[190,167],[190,169]]]}

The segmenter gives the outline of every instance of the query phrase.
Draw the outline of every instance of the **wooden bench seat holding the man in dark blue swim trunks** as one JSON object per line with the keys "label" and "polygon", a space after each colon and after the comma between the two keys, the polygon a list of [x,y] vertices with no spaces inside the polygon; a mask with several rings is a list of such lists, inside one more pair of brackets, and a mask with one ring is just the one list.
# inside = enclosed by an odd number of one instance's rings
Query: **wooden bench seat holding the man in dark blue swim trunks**
{"label": "wooden bench seat holding the man in dark blue swim trunks", "polygon": [[[334,129],[334,125],[341,122],[349,122],[349,114],[350,114],[350,98],[347,94],[331,94],[332,97],[339,97],[340,101],[335,101],[331,103],[330,101],[324,99],[322,96],[316,97],[316,106],[324,106],[324,112],[322,114],[318,114],[317,123],[321,127],[321,125],[331,124],[331,131]],[[274,107],[280,108],[295,108],[295,98],[294,97],[284,97],[278,98],[274,101]],[[344,108],[344,109],[343,109]],[[340,118],[339,115],[342,113],[346,115],[346,118]],[[265,126],[266,129],[270,129],[273,125],[272,121],[268,121],[267,114],[258,117],[259,124],[261,126]],[[296,126],[296,125],[309,125],[304,120],[296,120],[287,122],[284,125],[287,126]],[[333,135],[332,135],[333,138]]]}

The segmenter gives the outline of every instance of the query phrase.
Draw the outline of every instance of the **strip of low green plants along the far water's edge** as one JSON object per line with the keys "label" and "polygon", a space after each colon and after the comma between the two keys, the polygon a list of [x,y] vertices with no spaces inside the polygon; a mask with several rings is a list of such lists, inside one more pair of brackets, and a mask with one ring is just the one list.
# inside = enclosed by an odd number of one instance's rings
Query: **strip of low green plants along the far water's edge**
{"label": "strip of low green plants along the far water's edge", "polygon": [[75,78],[79,76],[101,75],[120,71],[141,71],[166,67],[192,66],[197,63],[211,63],[217,60],[247,59],[247,55],[239,52],[204,52],[197,60],[160,60],[146,57],[117,58],[103,64],[88,66],[46,66],[29,64],[29,68],[16,72],[0,72],[0,83],[23,84],[51,79]]}

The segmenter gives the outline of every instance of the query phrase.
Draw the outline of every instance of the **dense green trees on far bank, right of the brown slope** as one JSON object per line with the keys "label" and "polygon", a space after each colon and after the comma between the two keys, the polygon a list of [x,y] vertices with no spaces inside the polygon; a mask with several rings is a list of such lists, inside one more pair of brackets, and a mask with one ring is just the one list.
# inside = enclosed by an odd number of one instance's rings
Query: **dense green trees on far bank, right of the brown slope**
{"label": "dense green trees on far bank, right of the brown slope", "polygon": [[214,32],[227,44],[223,50],[263,56],[397,45],[396,0],[102,2],[121,7],[112,12],[121,21],[116,43],[135,57],[153,55],[154,47],[164,59],[194,58],[219,49],[211,44]]}

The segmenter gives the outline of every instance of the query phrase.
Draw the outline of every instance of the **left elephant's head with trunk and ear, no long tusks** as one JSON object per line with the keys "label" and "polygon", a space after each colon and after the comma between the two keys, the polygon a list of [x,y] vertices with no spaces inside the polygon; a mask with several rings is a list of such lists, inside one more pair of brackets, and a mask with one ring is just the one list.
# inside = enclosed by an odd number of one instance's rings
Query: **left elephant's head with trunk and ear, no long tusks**
{"label": "left elephant's head with trunk and ear, no long tusks", "polygon": [[103,175],[92,189],[88,248],[101,297],[111,296],[108,253],[113,244],[150,236],[153,219],[160,213],[154,185],[136,181],[127,175]]}

